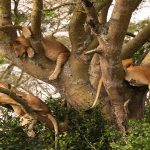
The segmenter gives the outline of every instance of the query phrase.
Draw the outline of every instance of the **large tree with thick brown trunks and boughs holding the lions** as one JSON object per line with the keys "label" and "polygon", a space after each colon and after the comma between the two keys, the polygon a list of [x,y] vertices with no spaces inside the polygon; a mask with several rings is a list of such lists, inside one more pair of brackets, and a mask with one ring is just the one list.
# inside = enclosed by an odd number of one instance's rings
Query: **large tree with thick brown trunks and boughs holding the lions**
{"label": "large tree with thick brown trunks and boughs holding the lions", "polygon": [[[122,59],[132,57],[133,53],[150,38],[150,28],[147,24],[132,40],[124,43],[131,15],[141,1],[116,0],[111,18],[107,22],[108,9],[112,0],[94,1],[95,3],[90,0],[78,0],[69,23],[71,56],[63,67],[60,77],[50,82],[48,77],[54,70],[55,63],[46,59],[40,43],[43,1],[33,0],[30,20],[33,34],[31,43],[36,51],[36,56],[32,61],[29,59],[21,61],[20,58],[15,57],[9,46],[10,41],[16,37],[15,30],[21,29],[21,26],[12,25],[11,1],[1,0],[1,52],[25,72],[47,83],[52,83],[67,102],[78,110],[90,108],[95,98],[94,87],[97,87],[98,80],[102,77],[104,86],[100,95],[105,101],[109,100],[108,105],[110,110],[114,111],[117,125],[125,132],[128,117],[142,118],[144,110],[143,96],[146,88],[129,86],[124,81],[125,73],[121,64]],[[93,57],[84,55],[85,50],[96,47],[97,54],[94,54]],[[92,58],[91,61],[89,57]],[[97,62],[98,65],[95,65],[94,62]],[[98,69],[95,78],[91,80],[88,74],[89,66],[91,70]],[[130,100],[129,112],[124,109],[124,103],[128,100]]]}

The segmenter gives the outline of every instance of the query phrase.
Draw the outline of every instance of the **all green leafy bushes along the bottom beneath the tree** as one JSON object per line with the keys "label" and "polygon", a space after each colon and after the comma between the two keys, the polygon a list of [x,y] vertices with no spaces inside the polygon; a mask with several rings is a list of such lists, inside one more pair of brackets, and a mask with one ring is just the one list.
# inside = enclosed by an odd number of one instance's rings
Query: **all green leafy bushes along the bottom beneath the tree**
{"label": "all green leafy bushes along the bottom beneath the tree", "polygon": [[[63,100],[48,100],[50,110],[59,121],[68,119],[69,130],[59,135],[60,150],[149,150],[150,107],[141,121],[131,120],[128,135],[122,134],[103,119],[98,108],[92,112],[76,111],[64,107]],[[35,126],[36,137],[28,138],[19,121],[3,110],[0,121],[0,149],[52,150],[54,138],[49,129],[41,124]],[[107,124],[107,125],[106,125]]]}

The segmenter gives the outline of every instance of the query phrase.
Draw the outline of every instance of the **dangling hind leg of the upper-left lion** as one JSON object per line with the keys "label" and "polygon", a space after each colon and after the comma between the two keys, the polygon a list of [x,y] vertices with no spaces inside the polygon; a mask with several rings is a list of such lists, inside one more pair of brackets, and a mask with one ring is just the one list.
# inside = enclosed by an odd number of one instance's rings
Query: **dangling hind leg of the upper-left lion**
{"label": "dangling hind leg of the upper-left lion", "polygon": [[56,66],[54,72],[50,75],[49,80],[57,79],[58,75],[61,72],[62,65],[68,60],[68,53],[61,53],[56,61]]}

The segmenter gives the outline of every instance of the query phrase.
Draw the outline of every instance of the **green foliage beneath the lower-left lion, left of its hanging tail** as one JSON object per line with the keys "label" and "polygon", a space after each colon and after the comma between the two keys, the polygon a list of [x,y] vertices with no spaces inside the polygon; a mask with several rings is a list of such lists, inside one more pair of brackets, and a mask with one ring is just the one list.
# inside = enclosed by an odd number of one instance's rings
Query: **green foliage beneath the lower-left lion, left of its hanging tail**
{"label": "green foliage beneath the lower-left lion, left of its hanging tail", "polygon": [[4,109],[3,113],[3,119],[0,120],[0,150],[6,148],[9,150],[41,150],[54,146],[53,136],[49,129],[39,124],[35,127],[36,137],[29,138],[22,130],[19,120],[12,117],[12,113]]}

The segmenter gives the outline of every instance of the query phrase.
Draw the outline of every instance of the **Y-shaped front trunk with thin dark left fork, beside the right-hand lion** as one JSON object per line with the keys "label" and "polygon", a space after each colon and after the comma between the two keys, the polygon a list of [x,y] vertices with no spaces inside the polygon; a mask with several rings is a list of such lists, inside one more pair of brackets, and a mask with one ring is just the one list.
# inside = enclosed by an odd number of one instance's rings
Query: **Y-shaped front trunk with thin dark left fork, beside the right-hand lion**
{"label": "Y-shaped front trunk with thin dark left fork, beside the right-hand lion", "polygon": [[127,126],[127,114],[124,110],[124,102],[126,101],[124,91],[126,88],[123,84],[124,71],[121,65],[120,56],[132,12],[141,0],[132,3],[126,0],[116,0],[109,25],[107,41],[101,37],[104,29],[102,27],[100,28],[92,3],[84,0],[82,2],[87,16],[90,18],[89,25],[95,32],[99,41],[99,49],[101,49],[100,66],[103,84],[114,107],[118,127],[125,132]]}

